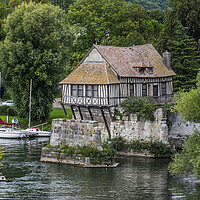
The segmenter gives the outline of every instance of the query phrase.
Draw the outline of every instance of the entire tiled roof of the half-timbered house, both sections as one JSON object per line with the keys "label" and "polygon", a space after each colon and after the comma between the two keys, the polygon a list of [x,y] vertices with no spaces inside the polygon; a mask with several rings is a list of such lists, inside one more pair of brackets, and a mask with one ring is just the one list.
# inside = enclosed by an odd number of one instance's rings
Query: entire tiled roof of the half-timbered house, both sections
{"label": "entire tiled roof of the half-timbered house, both sections", "polygon": [[[94,50],[97,55],[93,54]],[[89,59],[89,57],[92,59]],[[97,56],[97,57],[95,57]],[[98,61],[95,61],[97,59]],[[153,73],[139,72],[139,68],[153,68]],[[94,45],[79,65],[60,84],[116,84],[118,77],[174,76],[152,44],[113,47]]]}

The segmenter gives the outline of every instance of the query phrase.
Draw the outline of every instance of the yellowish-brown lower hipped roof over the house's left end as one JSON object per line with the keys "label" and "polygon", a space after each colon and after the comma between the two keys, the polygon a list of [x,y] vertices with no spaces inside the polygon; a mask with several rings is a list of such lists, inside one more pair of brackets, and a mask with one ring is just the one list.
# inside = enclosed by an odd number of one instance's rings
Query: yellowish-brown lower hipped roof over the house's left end
{"label": "yellowish-brown lower hipped roof over the house's left end", "polygon": [[106,63],[82,63],[60,84],[115,84],[116,75]]}

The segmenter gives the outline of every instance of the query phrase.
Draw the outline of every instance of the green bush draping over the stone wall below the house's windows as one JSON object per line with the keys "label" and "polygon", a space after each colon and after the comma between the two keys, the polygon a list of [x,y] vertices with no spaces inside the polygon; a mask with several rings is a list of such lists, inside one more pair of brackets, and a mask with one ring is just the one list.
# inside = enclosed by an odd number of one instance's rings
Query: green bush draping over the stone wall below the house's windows
{"label": "green bush draping over the stone wall below the house's windows", "polygon": [[149,97],[127,97],[121,104],[123,113],[127,116],[136,114],[137,117],[145,120],[154,121],[154,111],[156,106],[153,99]]}

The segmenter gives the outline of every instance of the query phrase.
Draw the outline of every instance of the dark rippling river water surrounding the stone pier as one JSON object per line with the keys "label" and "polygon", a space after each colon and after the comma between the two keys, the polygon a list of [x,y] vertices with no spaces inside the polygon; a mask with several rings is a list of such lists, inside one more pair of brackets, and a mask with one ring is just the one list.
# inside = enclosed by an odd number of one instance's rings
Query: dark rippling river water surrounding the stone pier
{"label": "dark rippling river water surrounding the stone pier", "polygon": [[0,182],[0,199],[20,200],[168,200],[200,199],[200,182],[175,179],[168,159],[119,158],[113,169],[91,169],[40,162],[48,138],[0,139],[1,172],[13,182]]}

